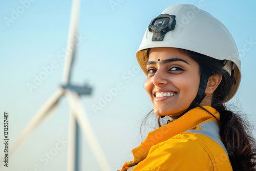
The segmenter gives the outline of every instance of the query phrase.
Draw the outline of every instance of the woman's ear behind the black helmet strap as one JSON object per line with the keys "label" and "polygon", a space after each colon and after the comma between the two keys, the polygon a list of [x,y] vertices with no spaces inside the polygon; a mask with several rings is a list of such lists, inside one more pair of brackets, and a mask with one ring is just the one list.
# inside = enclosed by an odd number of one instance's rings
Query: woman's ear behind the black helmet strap
{"label": "woman's ear behind the black helmet strap", "polygon": [[215,74],[215,75],[210,76],[208,79],[206,89],[205,89],[205,94],[213,93],[219,86],[221,79],[222,79],[221,74]]}

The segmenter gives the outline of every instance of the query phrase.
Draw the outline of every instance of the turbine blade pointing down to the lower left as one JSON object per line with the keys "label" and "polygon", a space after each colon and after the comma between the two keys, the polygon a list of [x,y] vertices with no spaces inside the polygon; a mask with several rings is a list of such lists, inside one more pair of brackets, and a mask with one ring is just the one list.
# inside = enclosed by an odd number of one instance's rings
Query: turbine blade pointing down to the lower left
{"label": "turbine blade pointing down to the lower left", "polygon": [[47,116],[50,115],[51,112],[56,109],[58,100],[64,94],[63,89],[59,89],[55,94],[53,94],[48,101],[42,105],[39,111],[32,118],[30,123],[24,129],[24,131],[20,134],[18,139],[15,141],[13,146],[10,148],[10,155],[12,155],[16,149],[28,138],[28,136],[32,133],[32,131],[44,120]]}

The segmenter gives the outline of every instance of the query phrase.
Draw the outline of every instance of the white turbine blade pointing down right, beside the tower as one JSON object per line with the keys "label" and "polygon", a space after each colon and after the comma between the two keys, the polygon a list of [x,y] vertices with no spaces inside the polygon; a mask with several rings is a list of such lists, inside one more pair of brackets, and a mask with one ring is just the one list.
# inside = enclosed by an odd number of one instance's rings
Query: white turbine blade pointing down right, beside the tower
{"label": "white turbine blade pointing down right, beside the tower", "polygon": [[87,118],[86,112],[83,110],[82,103],[80,98],[76,92],[71,92],[69,90],[66,91],[67,98],[70,102],[72,110],[76,110],[74,116],[80,126],[80,129],[83,132],[83,135],[86,136],[92,151],[100,164],[100,167],[104,171],[110,171],[110,166],[108,160],[103,153],[103,150],[94,134],[92,126]]}

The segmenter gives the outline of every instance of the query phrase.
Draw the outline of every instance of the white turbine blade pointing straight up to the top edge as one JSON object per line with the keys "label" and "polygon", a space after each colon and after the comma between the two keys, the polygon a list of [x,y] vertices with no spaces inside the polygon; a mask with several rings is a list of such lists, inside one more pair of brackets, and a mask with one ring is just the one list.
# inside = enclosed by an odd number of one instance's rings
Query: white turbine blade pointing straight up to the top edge
{"label": "white turbine blade pointing straight up to the top edge", "polygon": [[66,85],[69,83],[72,63],[74,61],[75,49],[76,49],[76,34],[78,27],[78,18],[79,18],[79,9],[80,9],[80,0],[73,0],[71,17],[70,17],[70,26],[69,26],[69,35],[68,35],[68,45],[66,51],[65,65],[62,76],[62,84]]}

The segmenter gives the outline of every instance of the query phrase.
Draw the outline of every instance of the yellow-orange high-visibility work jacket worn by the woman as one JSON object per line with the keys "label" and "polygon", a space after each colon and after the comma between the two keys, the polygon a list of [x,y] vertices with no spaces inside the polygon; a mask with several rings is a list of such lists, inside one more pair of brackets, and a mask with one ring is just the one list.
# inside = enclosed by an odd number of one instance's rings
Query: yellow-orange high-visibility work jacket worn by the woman
{"label": "yellow-orange high-visibility work jacket worn by the woman", "polygon": [[[220,118],[211,106],[203,107]],[[195,133],[206,122],[218,124],[212,115],[197,107],[148,133],[144,142],[132,150],[134,161],[124,163],[121,171],[232,170],[225,147],[207,135]]]}

